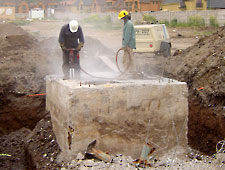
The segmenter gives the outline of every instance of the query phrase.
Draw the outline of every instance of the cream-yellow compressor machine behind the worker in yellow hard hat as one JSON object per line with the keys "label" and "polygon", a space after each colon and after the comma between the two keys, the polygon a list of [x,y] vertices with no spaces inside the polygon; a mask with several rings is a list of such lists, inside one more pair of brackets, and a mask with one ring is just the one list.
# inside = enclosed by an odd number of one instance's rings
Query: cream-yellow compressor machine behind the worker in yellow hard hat
{"label": "cream-yellow compressor machine behind the worker in yellow hard hat", "polygon": [[171,55],[171,41],[165,24],[136,25],[135,53]]}

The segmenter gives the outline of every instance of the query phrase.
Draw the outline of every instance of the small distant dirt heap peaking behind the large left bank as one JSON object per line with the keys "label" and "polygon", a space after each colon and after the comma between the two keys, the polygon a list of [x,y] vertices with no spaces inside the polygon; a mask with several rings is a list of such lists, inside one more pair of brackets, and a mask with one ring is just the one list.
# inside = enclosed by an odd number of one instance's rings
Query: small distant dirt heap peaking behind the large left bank
{"label": "small distant dirt heap peaking behind the large left bank", "polygon": [[0,24],[0,36],[8,35],[26,35],[28,34],[22,28],[17,27],[13,24]]}

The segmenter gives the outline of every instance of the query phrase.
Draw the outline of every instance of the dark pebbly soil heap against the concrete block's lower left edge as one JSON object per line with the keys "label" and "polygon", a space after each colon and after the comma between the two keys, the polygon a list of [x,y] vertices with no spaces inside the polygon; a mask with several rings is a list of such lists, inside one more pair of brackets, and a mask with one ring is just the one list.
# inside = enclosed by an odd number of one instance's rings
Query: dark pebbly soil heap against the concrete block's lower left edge
{"label": "dark pebbly soil heap against the concrete block's lower left edge", "polygon": [[60,169],[61,165],[56,161],[60,149],[52,131],[50,115],[37,123],[24,144],[28,169]]}

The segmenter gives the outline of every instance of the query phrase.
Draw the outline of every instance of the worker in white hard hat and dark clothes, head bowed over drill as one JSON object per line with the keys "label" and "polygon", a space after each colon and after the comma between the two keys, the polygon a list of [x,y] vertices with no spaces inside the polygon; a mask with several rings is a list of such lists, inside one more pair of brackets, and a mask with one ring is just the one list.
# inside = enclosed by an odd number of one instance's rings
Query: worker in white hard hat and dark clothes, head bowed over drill
{"label": "worker in white hard hat and dark clothes, head bowed over drill", "polygon": [[[69,78],[69,70],[71,66],[75,70],[75,74],[80,76],[80,60],[79,51],[84,46],[84,36],[81,26],[76,20],[72,20],[69,24],[64,25],[61,28],[59,34],[59,44],[63,51],[63,73],[64,79]],[[73,59],[70,61],[71,52],[73,53]],[[72,62],[72,63],[71,63]]]}

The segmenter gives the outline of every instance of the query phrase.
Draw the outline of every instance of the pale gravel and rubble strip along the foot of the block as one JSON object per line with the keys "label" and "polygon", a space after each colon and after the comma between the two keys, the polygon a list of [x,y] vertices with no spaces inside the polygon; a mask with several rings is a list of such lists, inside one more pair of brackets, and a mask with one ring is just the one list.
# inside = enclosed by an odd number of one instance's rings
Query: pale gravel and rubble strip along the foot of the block
{"label": "pale gravel and rubble strip along the foot of the block", "polygon": [[[222,151],[221,151],[222,152]],[[185,154],[184,148],[177,147],[166,155],[154,158],[152,167],[138,165],[130,156],[117,155],[112,163],[104,163],[94,159],[82,160],[82,154],[78,154],[76,160],[62,164],[61,170],[224,170],[225,153],[218,153],[213,157],[194,154]]]}

